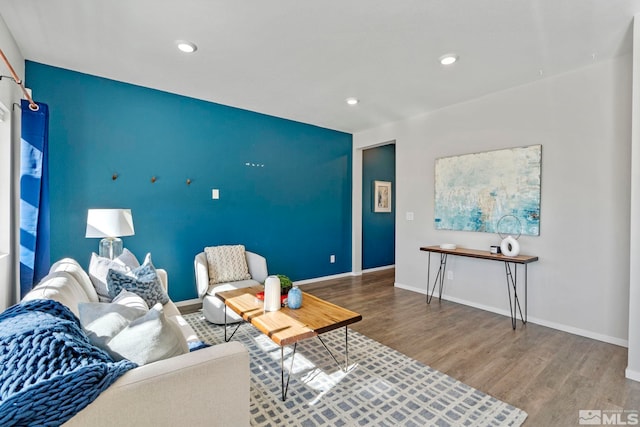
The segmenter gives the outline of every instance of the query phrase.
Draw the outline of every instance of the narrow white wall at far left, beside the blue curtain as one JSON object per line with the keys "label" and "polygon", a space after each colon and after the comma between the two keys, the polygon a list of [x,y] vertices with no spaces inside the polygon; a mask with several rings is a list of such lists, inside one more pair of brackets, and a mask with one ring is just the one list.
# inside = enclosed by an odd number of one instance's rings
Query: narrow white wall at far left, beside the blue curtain
{"label": "narrow white wall at far left, beside the blue curtain", "polygon": [[[0,18],[0,47],[11,62],[16,73],[24,78],[24,58],[2,18]],[[0,61],[0,74],[10,75],[8,68]],[[0,123],[0,311],[16,302],[17,298],[17,222],[18,203],[15,197],[19,191],[17,178],[18,150],[20,143],[20,102],[18,85],[8,78],[0,80],[0,109],[5,112]],[[13,149],[12,149],[13,148]],[[13,179],[12,179],[13,177]]]}

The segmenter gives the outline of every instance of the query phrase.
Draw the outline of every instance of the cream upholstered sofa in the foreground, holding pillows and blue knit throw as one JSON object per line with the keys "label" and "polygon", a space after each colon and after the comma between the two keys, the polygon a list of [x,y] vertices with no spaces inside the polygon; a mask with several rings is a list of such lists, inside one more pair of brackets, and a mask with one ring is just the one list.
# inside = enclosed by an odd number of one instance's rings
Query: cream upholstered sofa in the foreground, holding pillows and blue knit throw
{"label": "cream upholstered sofa in the foreground, holding pillows and blue knit throw", "polygon": [[[157,269],[166,290],[167,274]],[[52,299],[78,315],[80,303],[97,303],[89,275],[73,259],[55,263],[23,301]],[[187,342],[198,337],[169,300],[165,316]],[[65,426],[249,425],[249,354],[238,342],[222,343],[158,360],[119,377]]]}

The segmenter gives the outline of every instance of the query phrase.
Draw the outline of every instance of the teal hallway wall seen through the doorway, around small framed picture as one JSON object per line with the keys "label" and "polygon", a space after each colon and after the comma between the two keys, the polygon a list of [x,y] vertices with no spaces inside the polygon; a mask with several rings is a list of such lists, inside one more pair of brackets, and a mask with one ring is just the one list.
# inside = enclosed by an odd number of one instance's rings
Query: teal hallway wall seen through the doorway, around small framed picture
{"label": "teal hallway wall seen through the doorway, around small framed picture", "polygon": [[[391,213],[373,212],[374,181],[391,182]],[[362,152],[362,268],[395,264],[396,146]]]}

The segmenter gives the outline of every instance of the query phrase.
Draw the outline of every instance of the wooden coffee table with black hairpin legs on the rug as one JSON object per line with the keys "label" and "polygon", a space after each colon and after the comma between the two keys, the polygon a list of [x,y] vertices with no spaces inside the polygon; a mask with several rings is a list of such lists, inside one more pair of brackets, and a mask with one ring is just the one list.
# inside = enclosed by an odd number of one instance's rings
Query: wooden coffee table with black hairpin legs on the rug
{"label": "wooden coffee table with black hairpin legs on the rug", "polygon": [[[224,339],[225,341],[229,341],[240,326],[238,325],[227,338],[226,310],[228,307],[240,315],[244,321],[251,323],[260,332],[280,346],[280,378],[283,401],[287,398],[289,379],[293,371],[293,359],[296,355],[296,347],[299,341],[317,337],[340,369],[345,372],[347,371],[349,366],[348,326],[362,320],[360,314],[324,301],[306,292],[302,293],[302,307],[299,309],[293,310],[288,307],[282,307],[278,311],[265,312],[264,302],[256,298],[256,293],[262,291],[264,291],[264,287],[252,286],[216,293],[216,296],[224,302],[225,306]],[[338,359],[320,337],[320,335],[325,332],[342,327],[344,327],[345,341],[344,367],[340,365]],[[291,355],[291,369],[289,370],[289,375],[285,383],[284,347],[288,345],[293,345],[293,354]]]}

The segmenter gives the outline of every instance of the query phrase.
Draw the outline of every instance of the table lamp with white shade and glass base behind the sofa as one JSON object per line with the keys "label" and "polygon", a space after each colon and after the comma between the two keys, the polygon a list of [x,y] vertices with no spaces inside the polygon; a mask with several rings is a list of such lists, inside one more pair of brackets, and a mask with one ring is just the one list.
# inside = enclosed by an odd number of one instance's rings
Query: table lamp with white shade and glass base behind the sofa
{"label": "table lamp with white shade and glass base behind the sofa", "polygon": [[98,255],[114,259],[122,254],[122,236],[133,236],[131,209],[89,209],[85,237],[103,237]]}

